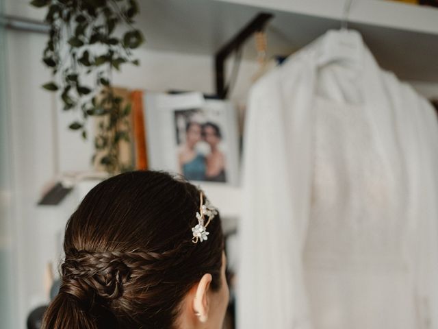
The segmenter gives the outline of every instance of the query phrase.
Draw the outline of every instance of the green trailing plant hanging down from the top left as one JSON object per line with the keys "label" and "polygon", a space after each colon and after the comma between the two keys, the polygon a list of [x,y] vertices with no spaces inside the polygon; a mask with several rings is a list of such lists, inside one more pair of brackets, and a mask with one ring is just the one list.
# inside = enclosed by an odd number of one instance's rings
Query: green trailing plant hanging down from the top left
{"label": "green trailing plant hanging down from the top left", "polygon": [[[77,119],[70,123],[86,139],[88,117],[103,117],[95,135],[96,153],[106,171],[124,171],[118,158],[118,145],[129,142],[128,103],[114,93],[112,71],[132,59],[133,49],[144,38],[133,27],[138,14],[135,0],[33,0],[31,5],[47,8],[45,21],[50,26],[42,61],[53,72],[54,81],[42,87],[59,93],[65,111],[75,110]],[[121,28],[124,34],[117,34]]]}

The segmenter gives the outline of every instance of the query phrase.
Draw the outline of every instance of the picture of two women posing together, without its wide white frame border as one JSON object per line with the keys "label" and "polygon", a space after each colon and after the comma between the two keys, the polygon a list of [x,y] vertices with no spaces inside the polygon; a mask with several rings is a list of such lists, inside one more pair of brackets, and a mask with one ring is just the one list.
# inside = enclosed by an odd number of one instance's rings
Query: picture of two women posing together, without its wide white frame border
{"label": "picture of two women posing together, without its wide white frame border", "polygon": [[[175,112],[179,172],[188,180],[227,182],[227,161],[221,149],[220,126],[212,121],[196,120],[196,112]],[[182,130],[183,122],[185,127]]]}

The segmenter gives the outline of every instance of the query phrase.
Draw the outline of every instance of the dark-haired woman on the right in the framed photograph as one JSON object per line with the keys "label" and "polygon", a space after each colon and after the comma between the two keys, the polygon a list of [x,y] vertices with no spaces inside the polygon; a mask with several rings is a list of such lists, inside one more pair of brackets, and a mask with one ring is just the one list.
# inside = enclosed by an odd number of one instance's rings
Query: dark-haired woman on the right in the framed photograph
{"label": "dark-haired woman on the right in the framed photograph", "polygon": [[219,149],[219,144],[222,141],[219,126],[212,122],[205,123],[203,125],[203,137],[211,149],[210,154],[206,158],[207,169],[205,171],[205,180],[210,182],[227,182],[225,155]]}

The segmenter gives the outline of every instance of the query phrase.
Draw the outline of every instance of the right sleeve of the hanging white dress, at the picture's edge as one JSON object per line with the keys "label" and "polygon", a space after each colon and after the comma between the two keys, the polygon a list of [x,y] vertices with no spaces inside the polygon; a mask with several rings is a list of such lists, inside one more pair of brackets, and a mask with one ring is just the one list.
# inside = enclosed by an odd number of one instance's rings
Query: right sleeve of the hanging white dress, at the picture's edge
{"label": "right sleeve of the hanging white dress, at the picture's edge", "polygon": [[438,328],[438,122],[420,97],[418,116],[420,185],[417,209],[417,309],[421,328]]}

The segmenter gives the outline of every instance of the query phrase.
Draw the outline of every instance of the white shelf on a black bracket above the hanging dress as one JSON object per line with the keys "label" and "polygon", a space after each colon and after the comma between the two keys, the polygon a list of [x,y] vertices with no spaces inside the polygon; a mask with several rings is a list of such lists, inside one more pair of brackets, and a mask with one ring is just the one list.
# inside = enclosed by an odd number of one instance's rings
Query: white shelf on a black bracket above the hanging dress
{"label": "white shelf on a black bracket above the hanging dress", "polygon": [[[213,56],[259,12],[268,24],[268,55],[288,56],[339,29],[345,0],[142,0],[138,24],[148,49]],[[383,69],[402,80],[438,82],[438,10],[395,1],[353,0],[357,29]],[[244,58],[257,58],[248,42]]]}

